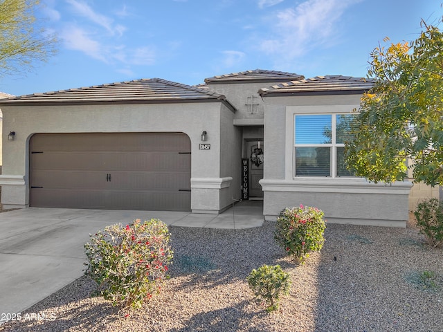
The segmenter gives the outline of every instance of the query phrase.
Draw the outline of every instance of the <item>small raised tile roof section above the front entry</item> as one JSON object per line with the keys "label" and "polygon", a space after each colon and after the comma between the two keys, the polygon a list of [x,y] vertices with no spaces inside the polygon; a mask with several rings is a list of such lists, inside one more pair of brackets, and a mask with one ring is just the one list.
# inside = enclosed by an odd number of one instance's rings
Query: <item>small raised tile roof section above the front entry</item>
{"label": "small raised tile roof section above the front entry", "polygon": [[282,71],[264,71],[262,69],[255,69],[255,71],[242,71],[240,73],[230,73],[226,75],[219,75],[205,79],[205,83],[235,83],[244,81],[273,81],[273,82],[288,82],[292,80],[301,80],[305,78],[303,75],[294,73],[284,73]]}

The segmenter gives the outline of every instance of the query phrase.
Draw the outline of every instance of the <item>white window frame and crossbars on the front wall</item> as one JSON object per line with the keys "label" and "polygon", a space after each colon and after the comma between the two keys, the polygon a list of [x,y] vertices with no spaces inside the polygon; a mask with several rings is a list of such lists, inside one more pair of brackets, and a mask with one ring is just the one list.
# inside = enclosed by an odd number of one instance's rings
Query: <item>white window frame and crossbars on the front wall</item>
{"label": "white window frame and crossbars on the front wall", "polygon": [[[355,113],[294,113],[293,122],[293,138],[292,138],[292,178],[355,178],[355,176],[337,176],[337,147],[345,147],[344,143],[336,143],[336,117],[341,115],[353,116]],[[325,144],[297,144],[296,143],[296,116],[331,116],[331,143]],[[329,147],[330,151],[330,175],[296,175],[296,147]]]}

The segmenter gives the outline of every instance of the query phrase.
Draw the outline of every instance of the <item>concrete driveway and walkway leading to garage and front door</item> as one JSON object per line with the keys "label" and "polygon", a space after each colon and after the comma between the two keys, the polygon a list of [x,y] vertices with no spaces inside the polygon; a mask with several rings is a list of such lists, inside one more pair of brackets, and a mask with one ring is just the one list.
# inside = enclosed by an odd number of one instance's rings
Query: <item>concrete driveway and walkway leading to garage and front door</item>
{"label": "concrete driveway and walkway leading to garage and front door", "polygon": [[222,214],[55,208],[0,213],[0,315],[21,313],[81,277],[89,234],[151,218],[174,226],[241,229],[260,227],[263,209],[261,201],[243,201]]}

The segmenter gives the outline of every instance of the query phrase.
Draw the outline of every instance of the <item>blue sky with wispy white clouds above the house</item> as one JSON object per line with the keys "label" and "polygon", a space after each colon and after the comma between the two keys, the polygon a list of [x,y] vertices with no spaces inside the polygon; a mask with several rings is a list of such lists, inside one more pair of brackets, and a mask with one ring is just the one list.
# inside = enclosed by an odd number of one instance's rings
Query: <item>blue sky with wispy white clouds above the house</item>
{"label": "blue sky with wispy white clouds above the house", "polygon": [[183,84],[256,68],[364,77],[371,50],[419,35],[439,0],[42,0],[57,55],[0,77],[14,95],[159,77]]}

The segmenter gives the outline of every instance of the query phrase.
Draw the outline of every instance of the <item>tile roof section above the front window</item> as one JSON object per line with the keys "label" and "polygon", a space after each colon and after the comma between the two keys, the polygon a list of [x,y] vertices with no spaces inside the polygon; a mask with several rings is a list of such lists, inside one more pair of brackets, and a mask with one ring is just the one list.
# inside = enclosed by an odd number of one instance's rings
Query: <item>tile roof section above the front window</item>
{"label": "tile roof section above the front window", "polygon": [[342,75],[316,76],[307,80],[284,82],[260,89],[259,95],[329,95],[357,94],[368,91],[374,80]]}

